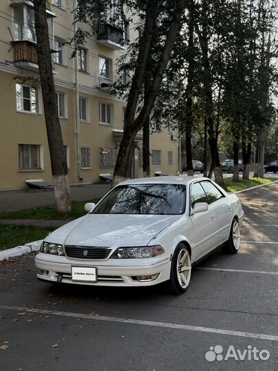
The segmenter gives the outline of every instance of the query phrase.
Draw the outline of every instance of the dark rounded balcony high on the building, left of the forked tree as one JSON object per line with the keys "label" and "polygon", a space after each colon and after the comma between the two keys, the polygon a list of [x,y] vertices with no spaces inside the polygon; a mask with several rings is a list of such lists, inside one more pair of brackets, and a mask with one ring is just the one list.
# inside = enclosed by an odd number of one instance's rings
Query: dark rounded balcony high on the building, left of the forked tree
{"label": "dark rounded balcony high on the building, left of the forked tree", "polygon": [[119,27],[102,23],[97,32],[97,42],[111,47],[114,50],[124,50],[124,41],[126,40],[126,32]]}

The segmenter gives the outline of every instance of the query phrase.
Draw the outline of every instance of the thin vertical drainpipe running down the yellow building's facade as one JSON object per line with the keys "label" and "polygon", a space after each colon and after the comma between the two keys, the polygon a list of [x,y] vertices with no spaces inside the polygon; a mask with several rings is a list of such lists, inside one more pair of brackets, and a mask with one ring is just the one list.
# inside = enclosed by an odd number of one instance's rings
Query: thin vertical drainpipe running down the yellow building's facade
{"label": "thin vertical drainpipe running down the yellow building's facade", "polygon": [[[73,0],[73,21],[76,19],[76,8],[77,0]],[[74,36],[76,35],[78,25],[74,22]],[[74,45],[76,49],[76,43]],[[80,164],[80,106],[79,106],[79,74],[78,74],[78,53],[74,57],[74,75],[75,75],[75,85],[76,85],[76,152],[77,152],[77,175],[78,180],[82,181],[81,175],[81,164]]]}

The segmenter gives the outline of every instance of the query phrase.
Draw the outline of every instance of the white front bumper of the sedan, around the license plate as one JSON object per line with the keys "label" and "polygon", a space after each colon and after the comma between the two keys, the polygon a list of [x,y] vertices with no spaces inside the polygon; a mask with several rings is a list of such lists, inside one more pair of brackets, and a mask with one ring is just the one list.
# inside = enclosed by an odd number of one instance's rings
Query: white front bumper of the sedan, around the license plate
{"label": "white front bumper of the sedan, around the license plate", "polygon": [[[55,261],[59,258],[60,261]],[[170,258],[150,258],[142,265],[130,260],[75,260],[65,257],[49,256],[38,253],[35,258],[36,276],[40,280],[68,284],[86,284],[90,286],[152,286],[170,279]],[[111,262],[111,265],[109,264]],[[131,264],[128,264],[130,262]],[[97,282],[78,282],[71,279],[71,266],[97,267]],[[159,273],[156,280],[139,282],[138,276],[153,276]]]}

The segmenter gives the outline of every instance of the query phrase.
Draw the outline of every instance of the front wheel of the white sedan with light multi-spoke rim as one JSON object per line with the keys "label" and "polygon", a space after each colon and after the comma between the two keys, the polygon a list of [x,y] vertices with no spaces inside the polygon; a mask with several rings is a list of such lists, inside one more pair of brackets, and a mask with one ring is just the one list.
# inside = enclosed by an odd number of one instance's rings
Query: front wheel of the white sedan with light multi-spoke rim
{"label": "front wheel of the white sedan with light multi-spoke rim", "polygon": [[[185,272],[185,273],[184,273]],[[172,295],[181,295],[187,290],[191,277],[191,260],[187,247],[180,243],[174,251],[170,271],[170,280],[165,288]]]}

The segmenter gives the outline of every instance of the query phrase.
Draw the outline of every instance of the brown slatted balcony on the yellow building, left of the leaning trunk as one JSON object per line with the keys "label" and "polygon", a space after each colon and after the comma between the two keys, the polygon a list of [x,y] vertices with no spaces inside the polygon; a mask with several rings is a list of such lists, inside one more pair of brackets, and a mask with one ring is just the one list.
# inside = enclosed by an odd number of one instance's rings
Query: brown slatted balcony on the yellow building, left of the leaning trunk
{"label": "brown slatted balcony on the yellow building, left of the leaning trunk", "polygon": [[14,65],[38,72],[36,44],[31,41],[14,41]]}

